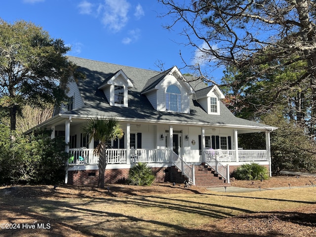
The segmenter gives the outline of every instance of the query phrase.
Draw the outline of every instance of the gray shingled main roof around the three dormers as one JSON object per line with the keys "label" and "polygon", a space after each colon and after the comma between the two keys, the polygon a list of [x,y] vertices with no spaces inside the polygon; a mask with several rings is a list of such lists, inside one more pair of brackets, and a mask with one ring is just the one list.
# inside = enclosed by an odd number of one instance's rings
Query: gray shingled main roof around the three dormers
{"label": "gray shingled main roof around the three dormers", "polygon": [[[69,56],[69,60],[80,67],[80,70],[86,74],[86,79],[78,82],[79,91],[85,106],[66,112],[68,114],[75,114],[78,116],[111,115],[130,119],[178,121],[179,124],[182,122],[192,124],[205,123],[207,125],[221,124],[223,126],[236,125],[269,129],[269,126],[267,125],[236,118],[222,102],[220,103],[220,115],[208,115],[200,107],[197,101],[192,98],[190,101],[190,114],[158,112],[152,107],[147,97],[141,94],[141,92],[144,89],[153,86],[153,84],[158,83],[157,81],[161,78],[161,72],[72,56]],[[134,87],[128,90],[128,108],[110,106],[103,91],[97,89],[98,86],[100,86],[106,79],[118,72],[120,69],[134,84]],[[204,83],[190,82],[190,84],[196,90],[201,89],[202,86],[206,87]]]}

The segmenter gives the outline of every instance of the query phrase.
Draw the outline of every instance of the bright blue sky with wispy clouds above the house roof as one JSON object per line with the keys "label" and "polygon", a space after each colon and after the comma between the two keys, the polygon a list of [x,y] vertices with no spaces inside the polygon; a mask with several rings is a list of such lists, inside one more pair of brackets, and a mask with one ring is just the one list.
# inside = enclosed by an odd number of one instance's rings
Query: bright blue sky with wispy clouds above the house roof
{"label": "bright blue sky with wispy clouds above the house roof", "polygon": [[157,0],[5,0],[0,18],[41,26],[71,45],[72,56],[157,71],[162,63],[165,70],[181,70],[179,52],[190,64],[195,48],[180,44],[187,40],[179,35],[181,26],[171,32],[162,28],[172,22],[158,17],[166,11]]}

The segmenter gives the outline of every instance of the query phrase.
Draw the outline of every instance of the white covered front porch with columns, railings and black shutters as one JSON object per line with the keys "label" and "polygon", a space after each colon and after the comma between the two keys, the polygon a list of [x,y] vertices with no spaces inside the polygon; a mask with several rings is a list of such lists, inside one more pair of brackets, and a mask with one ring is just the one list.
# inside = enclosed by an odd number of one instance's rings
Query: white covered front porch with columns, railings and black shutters
{"label": "white covered front porch with columns, railings and black shutters", "polygon": [[[98,170],[98,157],[93,154],[98,141],[89,141],[81,131],[88,119],[62,115],[47,121],[46,129],[53,130],[51,137],[64,136],[68,144],[66,183],[68,171],[85,171],[87,175],[92,175]],[[118,170],[121,173],[125,169],[126,172],[137,162],[148,163],[154,168],[175,166],[195,184],[194,167],[200,164],[208,165],[227,182],[230,173],[244,163],[257,162],[271,167],[270,132],[273,129],[269,127],[118,119],[124,136],[109,143],[109,171]],[[238,134],[253,132],[266,134],[265,150],[246,150],[238,146]]]}

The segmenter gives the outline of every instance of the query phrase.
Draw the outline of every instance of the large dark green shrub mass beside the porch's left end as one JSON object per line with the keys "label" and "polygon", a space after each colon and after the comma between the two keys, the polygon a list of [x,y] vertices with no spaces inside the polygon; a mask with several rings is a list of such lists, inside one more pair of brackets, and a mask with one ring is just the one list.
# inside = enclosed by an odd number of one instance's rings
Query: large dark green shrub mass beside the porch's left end
{"label": "large dark green shrub mass beside the porch's left end", "polygon": [[[0,185],[58,184],[65,177],[65,142],[50,133],[20,135],[11,141],[0,126]],[[1,136],[0,136],[1,137]]]}

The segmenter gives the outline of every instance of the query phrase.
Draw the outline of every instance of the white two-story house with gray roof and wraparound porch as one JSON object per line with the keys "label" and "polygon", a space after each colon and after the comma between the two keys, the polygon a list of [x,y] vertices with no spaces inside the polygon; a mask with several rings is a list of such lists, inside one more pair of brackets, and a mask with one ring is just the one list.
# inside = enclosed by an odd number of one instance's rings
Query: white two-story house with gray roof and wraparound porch
{"label": "white two-story house with gray roof and wraparound porch", "polygon": [[[53,117],[39,127],[64,136],[69,146],[65,182],[94,185],[98,157],[81,131],[91,118],[116,117],[122,139],[107,149],[107,183],[123,182],[137,162],[153,168],[156,181],[199,186],[229,183],[230,173],[244,163],[270,169],[270,132],[276,127],[236,118],[221,102],[215,85],[184,77],[177,67],[157,72],[77,57],[69,57],[86,79],[68,84],[69,104],[55,108]],[[191,79],[191,82],[190,82]],[[266,150],[238,147],[238,134],[265,132]]]}

